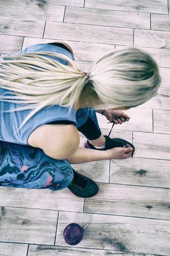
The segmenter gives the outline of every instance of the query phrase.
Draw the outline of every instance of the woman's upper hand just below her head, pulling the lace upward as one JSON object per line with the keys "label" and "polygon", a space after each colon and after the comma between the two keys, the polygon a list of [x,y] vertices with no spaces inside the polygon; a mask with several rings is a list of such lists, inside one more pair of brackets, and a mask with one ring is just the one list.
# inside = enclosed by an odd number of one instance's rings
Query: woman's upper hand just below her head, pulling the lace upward
{"label": "woman's upper hand just below her head, pulling the lace upward", "polygon": [[114,122],[115,125],[122,125],[122,122],[129,121],[130,116],[124,113],[122,110],[109,110],[105,109],[103,115],[110,121]]}

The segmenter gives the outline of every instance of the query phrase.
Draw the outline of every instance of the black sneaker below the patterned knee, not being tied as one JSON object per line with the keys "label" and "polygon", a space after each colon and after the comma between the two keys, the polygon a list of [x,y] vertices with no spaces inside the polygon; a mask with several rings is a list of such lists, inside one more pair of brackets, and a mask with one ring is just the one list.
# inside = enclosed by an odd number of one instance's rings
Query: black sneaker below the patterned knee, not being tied
{"label": "black sneaker below the patterned knee, not being tied", "polygon": [[89,198],[97,194],[99,191],[99,188],[97,184],[89,179],[88,177],[85,177],[84,175],[79,174],[74,169],[74,178],[70,185],[68,185],[68,189],[70,191],[81,198]]}

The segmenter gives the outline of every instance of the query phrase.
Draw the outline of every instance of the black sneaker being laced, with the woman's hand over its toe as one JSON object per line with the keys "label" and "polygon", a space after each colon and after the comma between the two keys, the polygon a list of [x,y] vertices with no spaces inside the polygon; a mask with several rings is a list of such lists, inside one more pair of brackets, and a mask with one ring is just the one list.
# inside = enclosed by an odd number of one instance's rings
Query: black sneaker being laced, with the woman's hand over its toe
{"label": "black sneaker being laced, with the woman's hand over its toe", "polygon": [[[131,156],[133,157],[135,147],[130,142],[128,142],[127,140],[118,139],[118,138],[111,139],[107,135],[104,135],[104,137],[106,138],[106,146],[105,146],[105,149],[102,149],[102,150],[108,150],[108,149],[116,148],[116,147],[123,147],[123,146],[126,146],[126,144],[129,144],[133,148],[133,152],[131,154]],[[91,149],[101,150],[101,149],[95,148],[88,140],[84,143],[83,148],[91,148]]]}

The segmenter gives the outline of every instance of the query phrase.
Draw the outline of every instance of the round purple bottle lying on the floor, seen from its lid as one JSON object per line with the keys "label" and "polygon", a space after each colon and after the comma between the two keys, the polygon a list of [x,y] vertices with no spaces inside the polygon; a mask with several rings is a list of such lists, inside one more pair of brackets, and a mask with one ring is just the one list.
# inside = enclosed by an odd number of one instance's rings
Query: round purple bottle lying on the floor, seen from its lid
{"label": "round purple bottle lying on the floor, seen from its lid", "polygon": [[[85,226],[85,228],[87,225]],[[76,245],[82,241],[84,229],[77,223],[68,224],[64,230],[64,240],[69,245]]]}

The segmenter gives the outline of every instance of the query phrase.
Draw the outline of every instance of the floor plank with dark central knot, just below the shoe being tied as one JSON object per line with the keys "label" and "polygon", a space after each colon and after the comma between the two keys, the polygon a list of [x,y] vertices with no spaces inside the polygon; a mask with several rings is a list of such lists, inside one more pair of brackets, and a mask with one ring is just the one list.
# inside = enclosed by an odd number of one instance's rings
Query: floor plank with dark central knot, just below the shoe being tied
{"label": "floor plank with dark central knot, just below the shoe being tied", "polygon": [[168,160],[136,157],[111,160],[110,183],[170,188],[169,165]]}

